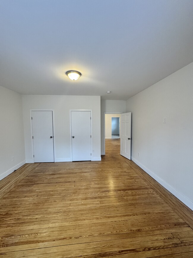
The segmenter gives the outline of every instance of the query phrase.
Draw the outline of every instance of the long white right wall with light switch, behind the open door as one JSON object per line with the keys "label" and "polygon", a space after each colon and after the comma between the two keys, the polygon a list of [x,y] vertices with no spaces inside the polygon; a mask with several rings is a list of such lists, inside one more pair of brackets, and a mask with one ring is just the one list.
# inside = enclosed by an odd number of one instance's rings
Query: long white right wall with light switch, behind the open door
{"label": "long white right wall with light switch, behind the open door", "polygon": [[132,160],[193,209],[193,63],[129,98],[130,111]]}

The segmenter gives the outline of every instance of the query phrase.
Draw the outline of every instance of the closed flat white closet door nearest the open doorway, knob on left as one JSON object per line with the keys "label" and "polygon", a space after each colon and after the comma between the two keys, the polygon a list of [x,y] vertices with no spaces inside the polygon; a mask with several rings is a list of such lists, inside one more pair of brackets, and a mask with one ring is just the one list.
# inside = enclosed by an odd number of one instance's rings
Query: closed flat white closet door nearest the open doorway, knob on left
{"label": "closed flat white closet door nearest the open doorway, knob on left", "polygon": [[72,161],[91,160],[91,111],[71,111]]}

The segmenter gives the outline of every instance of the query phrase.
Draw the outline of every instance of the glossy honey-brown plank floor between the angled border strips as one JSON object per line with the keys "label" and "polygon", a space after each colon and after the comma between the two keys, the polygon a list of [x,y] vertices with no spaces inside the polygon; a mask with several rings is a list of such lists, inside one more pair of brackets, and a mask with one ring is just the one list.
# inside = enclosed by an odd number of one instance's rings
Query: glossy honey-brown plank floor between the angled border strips
{"label": "glossy honey-brown plank floor between the angled border strips", "polygon": [[0,258],[193,257],[192,228],[119,143],[101,162],[33,164],[0,200]]}

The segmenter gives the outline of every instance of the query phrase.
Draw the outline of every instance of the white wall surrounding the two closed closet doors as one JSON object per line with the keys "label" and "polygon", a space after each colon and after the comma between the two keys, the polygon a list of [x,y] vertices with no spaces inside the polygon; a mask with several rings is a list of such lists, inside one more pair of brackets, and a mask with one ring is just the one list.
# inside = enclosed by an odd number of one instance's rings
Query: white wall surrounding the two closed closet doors
{"label": "white wall surrounding the two closed closet doors", "polygon": [[100,96],[23,95],[23,121],[26,162],[33,162],[30,134],[30,109],[53,109],[55,161],[70,161],[70,109],[93,111],[93,160],[100,160]]}

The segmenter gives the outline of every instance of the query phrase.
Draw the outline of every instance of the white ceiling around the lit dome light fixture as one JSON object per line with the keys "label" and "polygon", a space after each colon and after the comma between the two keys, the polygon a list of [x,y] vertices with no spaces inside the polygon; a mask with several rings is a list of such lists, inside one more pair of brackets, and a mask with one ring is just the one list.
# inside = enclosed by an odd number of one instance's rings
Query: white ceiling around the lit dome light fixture
{"label": "white ceiling around the lit dome light fixture", "polygon": [[0,0],[0,35],[1,86],[126,100],[193,62],[193,1]]}

